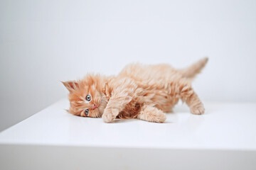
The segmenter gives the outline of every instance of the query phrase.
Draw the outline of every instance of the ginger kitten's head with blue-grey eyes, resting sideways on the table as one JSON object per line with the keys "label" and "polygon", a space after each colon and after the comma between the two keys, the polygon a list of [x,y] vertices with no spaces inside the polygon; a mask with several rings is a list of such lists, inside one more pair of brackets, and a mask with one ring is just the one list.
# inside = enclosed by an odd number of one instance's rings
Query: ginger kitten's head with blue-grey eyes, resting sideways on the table
{"label": "ginger kitten's head with blue-grey eyes, resting sideways on the table", "polygon": [[105,83],[105,77],[92,74],[82,80],[63,82],[70,92],[68,112],[83,117],[100,118],[107,106],[107,98],[103,93]]}

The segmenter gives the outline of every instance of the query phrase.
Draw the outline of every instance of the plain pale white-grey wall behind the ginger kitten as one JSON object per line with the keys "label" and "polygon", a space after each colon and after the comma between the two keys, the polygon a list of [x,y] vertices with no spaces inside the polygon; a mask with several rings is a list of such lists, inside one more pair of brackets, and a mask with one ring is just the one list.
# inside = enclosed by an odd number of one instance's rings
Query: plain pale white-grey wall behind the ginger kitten
{"label": "plain pale white-grey wall behind the ginger kitten", "polygon": [[66,98],[60,81],[206,56],[203,101],[256,101],[256,1],[1,0],[0,130]]}

